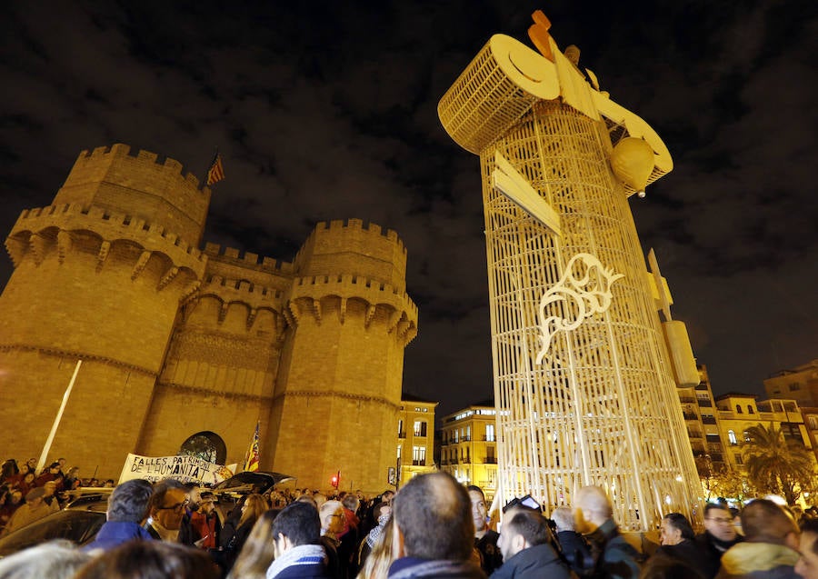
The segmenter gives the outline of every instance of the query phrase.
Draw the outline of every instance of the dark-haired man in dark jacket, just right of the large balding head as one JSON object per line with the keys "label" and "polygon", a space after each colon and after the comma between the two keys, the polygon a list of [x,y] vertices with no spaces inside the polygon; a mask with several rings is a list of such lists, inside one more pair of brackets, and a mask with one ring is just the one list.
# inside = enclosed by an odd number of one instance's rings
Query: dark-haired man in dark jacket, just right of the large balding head
{"label": "dark-haired man in dark jacket, just right of the large balding head", "polygon": [[513,508],[504,519],[499,543],[504,563],[492,579],[569,579],[571,571],[554,550],[554,537],[542,513]]}

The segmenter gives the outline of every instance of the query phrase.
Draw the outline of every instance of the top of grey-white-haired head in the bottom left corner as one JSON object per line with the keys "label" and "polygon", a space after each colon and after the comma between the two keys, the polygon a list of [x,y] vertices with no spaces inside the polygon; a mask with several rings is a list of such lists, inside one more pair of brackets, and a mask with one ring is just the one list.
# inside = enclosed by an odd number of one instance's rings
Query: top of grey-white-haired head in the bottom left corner
{"label": "top of grey-white-haired head in the bottom left corner", "polygon": [[70,541],[38,544],[0,560],[0,579],[69,579],[90,559]]}

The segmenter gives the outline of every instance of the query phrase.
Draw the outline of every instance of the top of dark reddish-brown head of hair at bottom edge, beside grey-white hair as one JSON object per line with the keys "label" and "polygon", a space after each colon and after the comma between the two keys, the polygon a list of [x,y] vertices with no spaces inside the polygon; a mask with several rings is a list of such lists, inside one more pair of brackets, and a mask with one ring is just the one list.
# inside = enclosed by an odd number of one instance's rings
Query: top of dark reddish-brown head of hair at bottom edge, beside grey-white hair
{"label": "top of dark reddish-brown head of hair at bottom edge, beside grey-white hair", "polygon": [[85,564],[74,579],[218,579],[200,549],[165,541],[129,541]]}

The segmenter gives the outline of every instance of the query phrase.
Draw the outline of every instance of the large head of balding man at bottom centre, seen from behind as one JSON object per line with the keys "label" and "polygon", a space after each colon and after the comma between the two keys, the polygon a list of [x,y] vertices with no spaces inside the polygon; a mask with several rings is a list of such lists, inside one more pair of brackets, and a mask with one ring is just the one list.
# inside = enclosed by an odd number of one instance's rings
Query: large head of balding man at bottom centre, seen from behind
{"label": "large head of balding man at bottom centre, seen from behind", "polygon": [[393,514],[390,579],[485,577],[470,561],[472,502],[451,474],[415,476],[395,495]]}

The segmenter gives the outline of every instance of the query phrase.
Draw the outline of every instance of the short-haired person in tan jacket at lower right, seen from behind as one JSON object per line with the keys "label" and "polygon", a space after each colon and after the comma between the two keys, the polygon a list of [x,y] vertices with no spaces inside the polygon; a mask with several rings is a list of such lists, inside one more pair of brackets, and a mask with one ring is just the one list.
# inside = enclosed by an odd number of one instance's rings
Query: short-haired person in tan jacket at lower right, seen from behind
{"label": "short-haired person in tan jacket at lower right, seen from behind", "polygon": [[722,555],[717,579],[794,579],[799,529],[789,511],[768,499],[742,509],[743,543]]}

